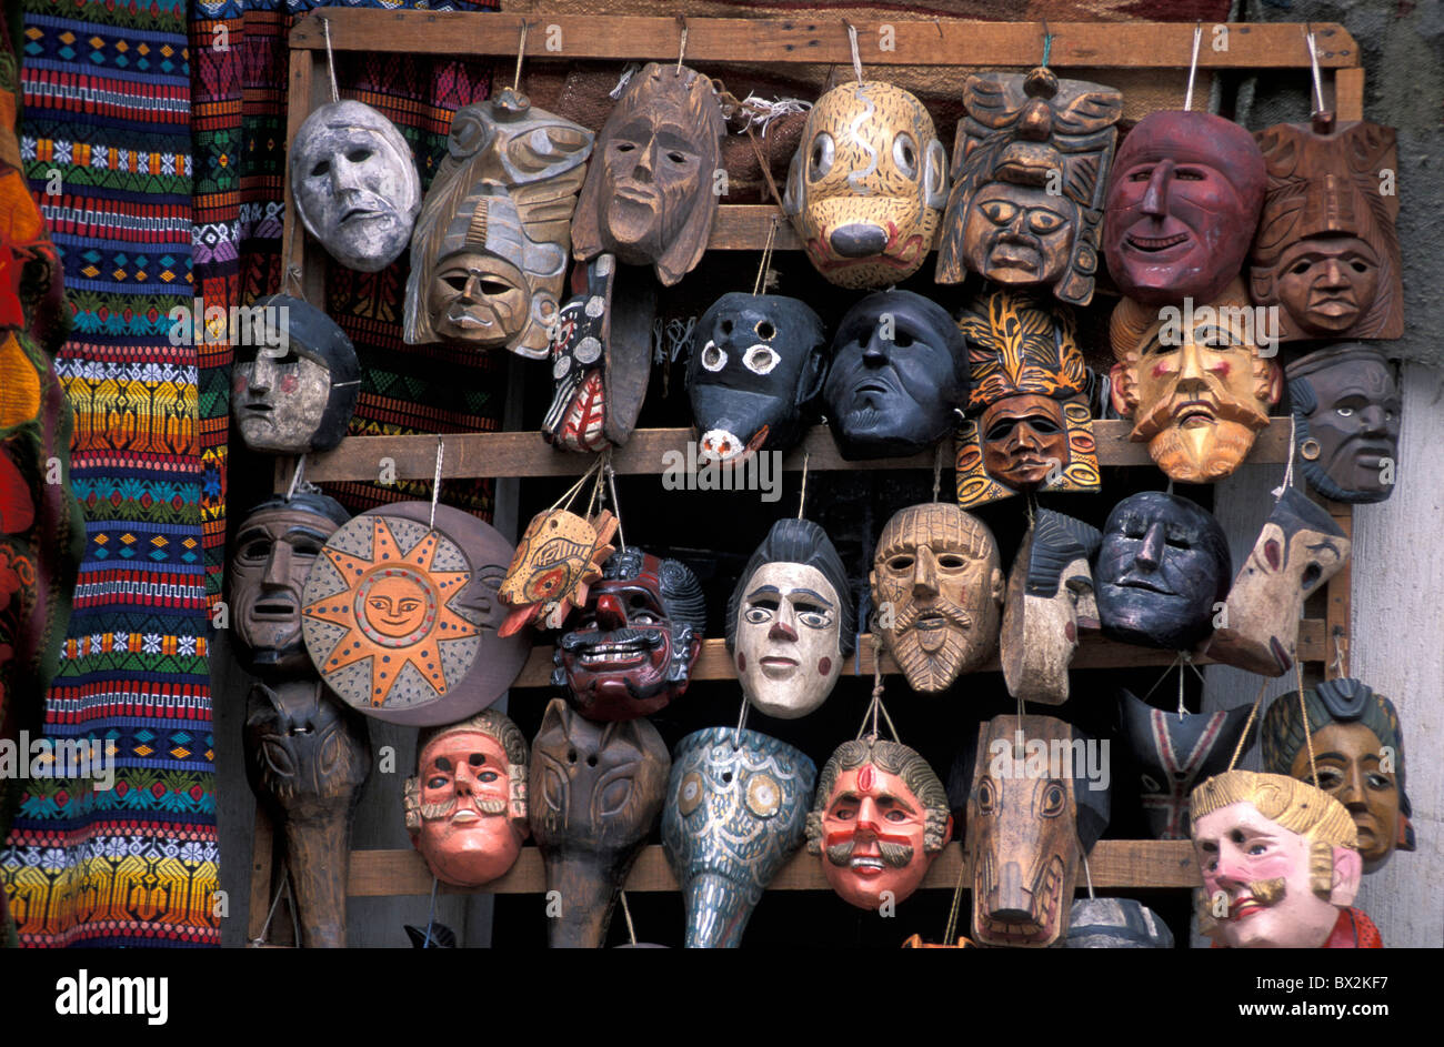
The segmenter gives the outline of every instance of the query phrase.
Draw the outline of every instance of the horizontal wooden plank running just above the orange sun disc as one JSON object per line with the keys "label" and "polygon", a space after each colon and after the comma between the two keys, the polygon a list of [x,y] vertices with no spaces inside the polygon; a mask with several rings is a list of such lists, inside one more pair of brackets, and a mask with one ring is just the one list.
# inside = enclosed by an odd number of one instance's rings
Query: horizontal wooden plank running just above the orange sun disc
{"label": "horizontal wooden plank running just above the orange sun disc", "polygon": [[[1151,465],[1148,448],[1128,439],[1129,422],[1095,422],[1100,465]],[[1288,461],[1288,419],[1272,419],[1259,433],[1248,462],[1282,465]],[[686,462],[690,429],[638,429],[627,446],[612,452],[619,475],[661,475],[673,462]],[[579,477],[591,468],[592,455],[556,451],[540,432],[449,433],[442,477]],[[695,452],[693,452],[695,453]],[[680,455],[682,458],[670,458]],[[879,458],[849,462],[833,443],[826,426],[813,426],[803,442],[783,458],[786,472],[800,472],[807,458],[810,471],[931,469],[933,452],[908,458]],[[430,479],[436,471],[436,438],[348,436],[334,451],[306,458],[306,479],[312,482],[375,481],[383,459],[390,459],[397,479]],[[1160,474],[1161,475],[1161,474]],[[284,482],[290,482],[289,474]],[[280,488],[284,490],[284,488]]]}

